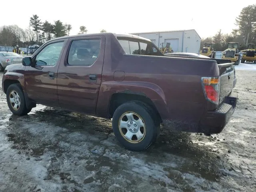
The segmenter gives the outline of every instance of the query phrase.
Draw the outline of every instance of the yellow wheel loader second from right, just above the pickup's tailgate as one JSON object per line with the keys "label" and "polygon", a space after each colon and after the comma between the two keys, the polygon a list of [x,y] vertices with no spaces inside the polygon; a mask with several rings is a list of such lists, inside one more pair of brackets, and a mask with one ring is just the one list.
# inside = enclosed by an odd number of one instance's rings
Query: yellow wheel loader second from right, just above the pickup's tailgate
{"label": "yellow wheel loader second from right, just above the pickup's tailgate", "polygon": [[238,43],[229,42],[228,48],[222,52],[221,58],[231,60],[231,62],[235,62],[235,65],[239,65],[241,55],[238,52]]}

